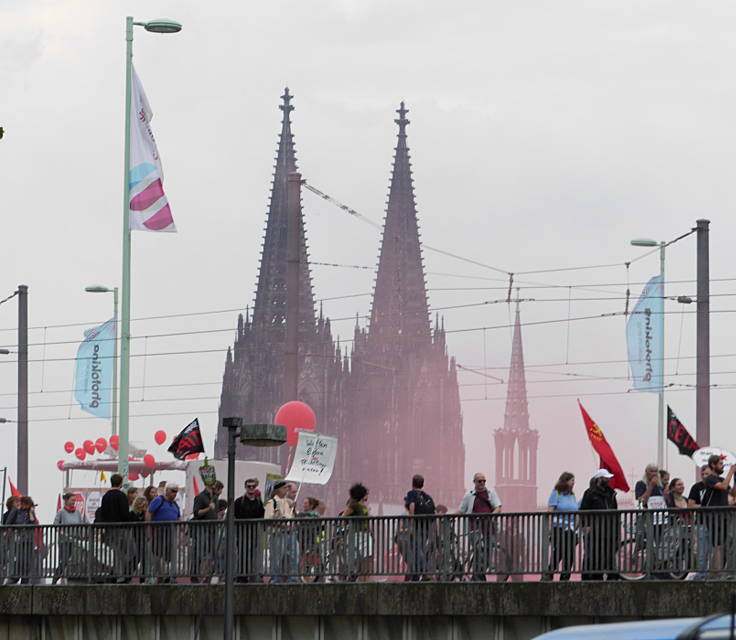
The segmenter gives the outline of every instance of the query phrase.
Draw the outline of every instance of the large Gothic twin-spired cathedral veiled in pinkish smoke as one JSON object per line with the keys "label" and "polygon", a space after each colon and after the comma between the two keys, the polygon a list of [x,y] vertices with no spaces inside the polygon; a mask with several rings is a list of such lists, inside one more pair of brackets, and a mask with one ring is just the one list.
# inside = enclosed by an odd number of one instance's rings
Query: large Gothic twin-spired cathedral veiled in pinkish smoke
{"label": "large Gothic twin-spired cathedral veiled in pinkish smoke", "polygon": [[[271,422],[284,397],[286,351],[287,181],[297,171],[291,131],[292,96],[282,96],[281,134],[266,218],[256,296],[238,317],[228,349],[219,420]],[[315,309],[304,220],[300,211],[298,398],[317,415],[317,431],[338,438],[335,470],[310,493],[338,512],[353,482],[370,490],[374,514],[401,513],[411,477],[421,473],[435,502],[454,510],[465,491],[463,421],[454,358],[443,322],[431,322],[419,239],[407,109],[397,110],[397,144],[378,271],[367,327],[356,326],[352,349],[332,337],[330,321]],[[215,457],[226,456],[217,430]],[[239,447],[241,459],[288,462],[286,446]],[[314,491],[312,491],[314,489]],[[321,494],[318,489],[321,489]]]}

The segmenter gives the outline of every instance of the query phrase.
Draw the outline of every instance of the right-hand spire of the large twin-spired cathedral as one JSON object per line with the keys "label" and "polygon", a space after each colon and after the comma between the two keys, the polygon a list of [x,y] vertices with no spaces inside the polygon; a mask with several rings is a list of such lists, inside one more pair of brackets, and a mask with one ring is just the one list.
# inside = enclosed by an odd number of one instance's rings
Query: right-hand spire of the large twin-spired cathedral
{"label": "right-hand spire of the large twin-spired cathedral", "polygon": [[391,349],[398,339],[403,344],[431,340],[417,208],[406,144],[408,109],[402,102],[396,112],[399,114],[394,120],[399,125],[398,141],[369,332],[369,340],[386,349]]}

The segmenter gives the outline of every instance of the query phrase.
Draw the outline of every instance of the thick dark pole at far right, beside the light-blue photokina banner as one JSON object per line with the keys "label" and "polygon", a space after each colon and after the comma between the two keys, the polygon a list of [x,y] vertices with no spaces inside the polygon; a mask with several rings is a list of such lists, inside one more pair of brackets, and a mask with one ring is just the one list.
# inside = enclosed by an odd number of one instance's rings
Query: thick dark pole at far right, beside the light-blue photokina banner
{"label": "thick dark pole at far right, beside the light-blue photokina banner", "polygon": [[698,230],[698,307],[696,351],[696,436],[701,447],[710,444],[710,273],[708,256],[708,226],[710,220],[700,219]]}

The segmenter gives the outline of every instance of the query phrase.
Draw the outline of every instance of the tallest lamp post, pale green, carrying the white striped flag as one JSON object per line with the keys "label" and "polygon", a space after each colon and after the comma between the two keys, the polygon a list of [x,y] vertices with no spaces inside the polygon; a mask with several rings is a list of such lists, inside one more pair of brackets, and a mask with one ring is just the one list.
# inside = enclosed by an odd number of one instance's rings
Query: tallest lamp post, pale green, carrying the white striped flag
{"label": "tallest lamp post, pale green, carrying the white striped flag", "polygon": [[177,33],[181,25],[174,20],[158,19],[134,22],[125,19],[125,160],[123,163],[123,275],[122,312],[120,317],[120,440],[118,473],[128,483],[128,419],[130,399],[130,100],[133,85],[133,27],[152,33]]}

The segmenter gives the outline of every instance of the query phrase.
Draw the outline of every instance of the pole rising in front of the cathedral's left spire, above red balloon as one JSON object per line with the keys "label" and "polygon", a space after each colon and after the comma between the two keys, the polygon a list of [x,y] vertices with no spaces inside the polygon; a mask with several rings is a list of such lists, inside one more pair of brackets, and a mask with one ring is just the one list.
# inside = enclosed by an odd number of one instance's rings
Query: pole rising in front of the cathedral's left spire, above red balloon
{"label": "pole rising in front of the cathedral's left spire, above red balloon", "polygon": [[297,400],[299,386],[300,173],[290,173],[286,196],[286,376],[284,400]]}

